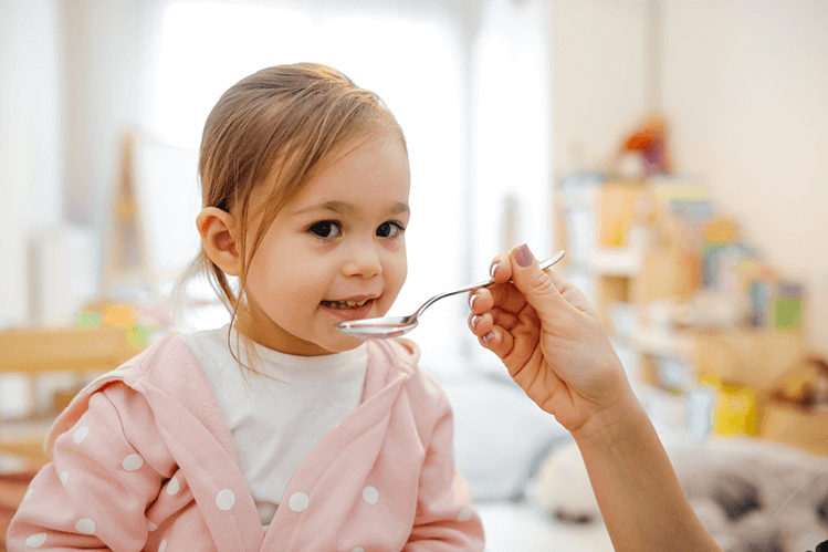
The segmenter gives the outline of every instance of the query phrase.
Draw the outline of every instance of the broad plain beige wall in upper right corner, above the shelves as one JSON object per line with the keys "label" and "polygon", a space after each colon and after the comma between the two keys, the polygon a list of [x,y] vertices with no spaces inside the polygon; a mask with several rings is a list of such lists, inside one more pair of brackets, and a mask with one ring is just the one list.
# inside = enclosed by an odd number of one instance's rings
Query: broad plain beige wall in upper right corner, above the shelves
{"label": "broad plain beige wall in upper right corner, above the shelves", "polygon": [[828,3],[665,0],[663,102],[675,168],[810,291],[828,354]]}

